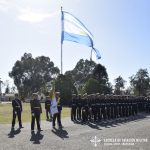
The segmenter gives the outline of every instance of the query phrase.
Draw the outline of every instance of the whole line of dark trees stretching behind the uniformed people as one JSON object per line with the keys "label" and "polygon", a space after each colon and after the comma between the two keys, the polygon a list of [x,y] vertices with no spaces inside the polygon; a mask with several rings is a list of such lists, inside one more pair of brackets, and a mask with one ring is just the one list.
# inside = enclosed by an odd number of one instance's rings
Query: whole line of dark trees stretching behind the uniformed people
{"label": "whole line of dark trees stretching behind the uniformed people", "polygon": [[109,82],[107,69],[92,60],[80,59],[75,68],[63,75],[53,61],[46,56],[32,57],[25,53],[17,60],[9,72],[22,98],[28,98],[34,92],[48,94],[55,81],[55,88],[60,91],[63,103],[68,104],[71,95],[75,94],[132,94],[146,96],[150,89],[150,77],[147,69],[139,69],[129,77],[130,86],[125,89],[126,81],[117,77],[115,85]]}

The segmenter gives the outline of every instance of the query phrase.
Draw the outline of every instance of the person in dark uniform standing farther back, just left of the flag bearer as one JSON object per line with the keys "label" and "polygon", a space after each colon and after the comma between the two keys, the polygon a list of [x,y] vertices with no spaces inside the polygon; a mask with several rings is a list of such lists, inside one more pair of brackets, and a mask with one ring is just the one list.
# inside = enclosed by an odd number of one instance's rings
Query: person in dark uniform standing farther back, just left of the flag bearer
{"label": "person in dark uniform standing farther back, just left of the flag bearer", "polygon": [[46,96],[45,99],[45,110],[46,110],[46,120],[48,121],[50,119],[52,119],[51,113],[50,113],[50,106],[51,106],[51,100],[50,100],[50,96]]}

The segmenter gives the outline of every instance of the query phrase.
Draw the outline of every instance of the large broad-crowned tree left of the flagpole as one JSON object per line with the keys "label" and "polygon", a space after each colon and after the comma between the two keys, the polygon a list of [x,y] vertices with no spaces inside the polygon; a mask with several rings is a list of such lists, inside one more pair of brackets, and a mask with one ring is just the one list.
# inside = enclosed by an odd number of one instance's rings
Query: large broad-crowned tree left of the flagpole
{"label": "large broad-crowned tree left of the flagpole", "polygon": [[58,74],[59,69],[49,57],[40,56],[34,59],[30,53],[25,53],[21,60],[16,61],[9,76],[13,78],[20,95],[27,97],[40,91]]}

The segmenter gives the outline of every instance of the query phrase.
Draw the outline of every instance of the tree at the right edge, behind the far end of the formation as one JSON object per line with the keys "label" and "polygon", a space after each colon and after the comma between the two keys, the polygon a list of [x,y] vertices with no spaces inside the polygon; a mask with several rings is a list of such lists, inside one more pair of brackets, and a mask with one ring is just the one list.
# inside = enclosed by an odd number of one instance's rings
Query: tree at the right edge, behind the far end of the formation
{"label": "tree at the right edge, behind the far end of the formation", "polygon": [[150,88],[150,78],[147,69],[139,69],[136,75],[132,75],[129,79],[134,89],[134,94],[145,96]]}

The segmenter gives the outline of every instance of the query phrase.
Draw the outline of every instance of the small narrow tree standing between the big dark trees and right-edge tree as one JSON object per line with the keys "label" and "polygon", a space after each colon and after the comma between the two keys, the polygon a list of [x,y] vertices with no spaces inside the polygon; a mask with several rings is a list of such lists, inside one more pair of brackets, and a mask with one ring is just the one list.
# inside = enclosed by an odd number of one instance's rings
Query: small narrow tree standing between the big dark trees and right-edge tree
{"label": "small narrow tree standing between the big dark trees and right-edge tree", "polygon": [[124,89],[125,82],[126,81],[121,76],[115,79],[115,91],[114,91],[115,94],[117,95],[122,94],[122,90]]}

